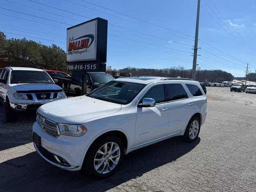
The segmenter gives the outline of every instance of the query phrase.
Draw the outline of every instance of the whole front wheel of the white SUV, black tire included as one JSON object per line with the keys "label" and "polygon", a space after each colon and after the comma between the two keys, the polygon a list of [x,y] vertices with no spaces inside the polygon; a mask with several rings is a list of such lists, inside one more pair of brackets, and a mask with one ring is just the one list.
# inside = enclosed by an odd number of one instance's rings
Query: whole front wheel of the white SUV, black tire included
{"label": "whole front wheel of the white SUV, black tire included", "polygon": [[124,145],[117,136],[106,136],[96,141],[88,150],[83,169],[89,176],[105,178],[120,166]]}

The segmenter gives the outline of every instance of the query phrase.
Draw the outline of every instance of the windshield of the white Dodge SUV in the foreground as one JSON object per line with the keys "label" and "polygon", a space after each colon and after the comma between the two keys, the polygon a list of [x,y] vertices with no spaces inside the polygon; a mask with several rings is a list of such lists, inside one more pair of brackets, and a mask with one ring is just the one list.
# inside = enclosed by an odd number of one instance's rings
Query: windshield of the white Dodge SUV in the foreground
{"label": "windshield of the white Dodge SUV in the foreground", "polygon": [[128,104],[145,86],[146,84],[110,81],[88,96],[112,103]]}

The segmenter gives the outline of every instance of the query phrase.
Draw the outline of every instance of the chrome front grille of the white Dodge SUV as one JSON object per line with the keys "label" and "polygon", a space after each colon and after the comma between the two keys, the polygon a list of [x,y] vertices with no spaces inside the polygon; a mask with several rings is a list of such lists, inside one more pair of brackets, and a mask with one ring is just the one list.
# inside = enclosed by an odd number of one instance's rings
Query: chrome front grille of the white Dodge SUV
{"label": "chrome front grille of the white Dodge SUV", "polygon": [[36,113],[36,121],[44,132],[46,132],[50,136],[58,137],[59,131],[55,122],[41,116],[39,113]]}

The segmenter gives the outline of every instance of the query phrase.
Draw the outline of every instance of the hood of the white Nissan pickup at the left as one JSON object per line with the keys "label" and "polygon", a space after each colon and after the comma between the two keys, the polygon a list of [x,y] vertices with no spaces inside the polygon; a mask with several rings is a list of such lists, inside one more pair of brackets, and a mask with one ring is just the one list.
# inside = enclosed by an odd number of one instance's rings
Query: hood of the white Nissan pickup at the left
{"label": "hood of the white Nissan pickup at the left", "polygon": [[23,83],[23,84],[10,84],[16,91],[33,91],[33,90],[62,90],[56,84],[48,83]]}

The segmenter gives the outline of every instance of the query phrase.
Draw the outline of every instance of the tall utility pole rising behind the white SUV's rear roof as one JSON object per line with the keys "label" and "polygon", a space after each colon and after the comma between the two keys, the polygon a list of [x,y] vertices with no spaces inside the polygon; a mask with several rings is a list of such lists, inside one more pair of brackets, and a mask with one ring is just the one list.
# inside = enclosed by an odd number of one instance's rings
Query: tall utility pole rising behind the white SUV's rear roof
{"label": "tall utility pole rising behind the white SUV's rear roof", "polygon": [[196,58],[197,58],[197,44],[198,44],[199,12],[200,12],[200,0],[197,0],[196,36],[195,36],[195,45],[194,45],[193,67],[192,67],[192,79],[194,80],[196,80]]}

